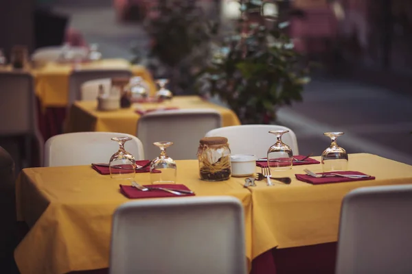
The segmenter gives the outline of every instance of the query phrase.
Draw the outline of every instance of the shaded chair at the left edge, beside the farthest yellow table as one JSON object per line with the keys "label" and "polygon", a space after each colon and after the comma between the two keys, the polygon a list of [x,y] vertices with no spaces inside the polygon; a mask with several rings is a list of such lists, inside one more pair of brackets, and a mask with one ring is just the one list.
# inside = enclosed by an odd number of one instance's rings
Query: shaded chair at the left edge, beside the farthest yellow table
{"label": "shaded chair at the left edge, beside the farthest yellow table", "polygon": [[0,72],[0,136],[24,137],[24,162],[32,166],[32,140],[38,145],[39,161],[43,160],[43,136],[38,130],[33,77],[23,72]]}

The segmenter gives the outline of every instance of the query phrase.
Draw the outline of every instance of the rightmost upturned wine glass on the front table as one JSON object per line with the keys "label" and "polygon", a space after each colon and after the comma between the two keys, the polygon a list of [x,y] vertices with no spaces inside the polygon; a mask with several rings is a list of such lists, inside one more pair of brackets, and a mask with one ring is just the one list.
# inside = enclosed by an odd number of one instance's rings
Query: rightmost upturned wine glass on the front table
{"label": "rightmost upturned wine glass on the front table", "polygon": [[323,172],[347,170],[347,153],[336,142],[336,139],[342,136],[343,132],[325,132],[323,135],[330,137],[331,140],[330,147],[322,153]]}

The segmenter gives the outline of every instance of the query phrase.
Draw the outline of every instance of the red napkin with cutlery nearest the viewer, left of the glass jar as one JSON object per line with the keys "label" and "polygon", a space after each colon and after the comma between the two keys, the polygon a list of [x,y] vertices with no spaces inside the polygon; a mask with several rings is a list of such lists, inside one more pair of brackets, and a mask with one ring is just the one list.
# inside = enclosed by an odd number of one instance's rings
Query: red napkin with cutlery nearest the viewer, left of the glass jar
{"label": "red napkin with cutlery nearest the viewer, left of the glass jar", "polygon": [[[169,192],[165,192],[163,190],[149,190],[149,191],[141,191],[133,186],[120,186],[120,192],[129,199],[141,199],[141,198],[161,198],[161,197],[183,197],[179,195],[174,195]],[[184,184],[149,184],[146,187],[150,186],[157,186],[159,188],[170,188],[170,189],[178,189],[178,190],[190,190]],[[194,194],[186,194],[184,196],[194,196]]]}

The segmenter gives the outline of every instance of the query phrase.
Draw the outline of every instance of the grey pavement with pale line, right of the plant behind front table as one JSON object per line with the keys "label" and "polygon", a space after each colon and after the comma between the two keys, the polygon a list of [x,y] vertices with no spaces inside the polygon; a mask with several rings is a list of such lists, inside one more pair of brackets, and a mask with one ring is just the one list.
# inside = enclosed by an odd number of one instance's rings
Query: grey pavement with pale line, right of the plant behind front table
{"label": "grey pavement with pale line, right of the plant behind front table", "polygon": [[278,112],[280,124],[297,134],[302,154],[320,155],[341,131],[348,153],[367,152],[412,164],[412,97],[347,79],[315,77],[304,101]]}

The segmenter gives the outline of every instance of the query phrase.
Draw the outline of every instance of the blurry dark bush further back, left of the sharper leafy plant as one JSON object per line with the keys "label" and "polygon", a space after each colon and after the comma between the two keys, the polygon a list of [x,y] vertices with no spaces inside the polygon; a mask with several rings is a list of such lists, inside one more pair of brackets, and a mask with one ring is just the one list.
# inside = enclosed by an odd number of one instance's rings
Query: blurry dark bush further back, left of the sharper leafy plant
{"label": "blurry dark bush further back, left of the sharper leafy plant", "polygon": [[175,94],[193,93],[195,75],[205,66],[209,41],[217,24],[207,20],[192,0],[159,0],[149,12],[148,68],[155,77],[170,79]]}

